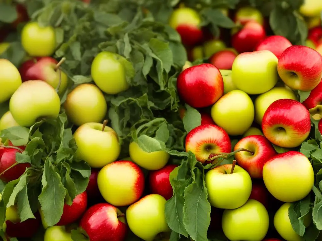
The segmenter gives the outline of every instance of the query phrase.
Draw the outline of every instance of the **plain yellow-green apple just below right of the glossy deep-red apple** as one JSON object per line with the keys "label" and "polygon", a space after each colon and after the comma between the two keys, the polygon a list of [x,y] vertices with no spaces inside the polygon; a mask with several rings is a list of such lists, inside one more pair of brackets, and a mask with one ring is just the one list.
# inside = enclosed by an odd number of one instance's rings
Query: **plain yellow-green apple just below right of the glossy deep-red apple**
{"label": "plain yellow-green apple just below right of the glossy deep-red apple", "polygon": [[245,92],[232,90],[213,105],[211,117],[229,135],[242,135],[254,121],[254,104]]}

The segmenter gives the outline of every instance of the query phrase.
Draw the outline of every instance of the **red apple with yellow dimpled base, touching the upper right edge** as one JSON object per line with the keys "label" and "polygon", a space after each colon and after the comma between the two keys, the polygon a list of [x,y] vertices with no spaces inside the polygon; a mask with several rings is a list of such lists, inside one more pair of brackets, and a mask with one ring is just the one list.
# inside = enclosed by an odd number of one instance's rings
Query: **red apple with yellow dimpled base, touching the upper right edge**
{"label": "red apple with yellow dimpled base, touching the upper right edge", "polygon": [[321,81],[322,57],[314,49],[293,45],[279,57],[277,71],[285,85],[295,90],[310,91]]}

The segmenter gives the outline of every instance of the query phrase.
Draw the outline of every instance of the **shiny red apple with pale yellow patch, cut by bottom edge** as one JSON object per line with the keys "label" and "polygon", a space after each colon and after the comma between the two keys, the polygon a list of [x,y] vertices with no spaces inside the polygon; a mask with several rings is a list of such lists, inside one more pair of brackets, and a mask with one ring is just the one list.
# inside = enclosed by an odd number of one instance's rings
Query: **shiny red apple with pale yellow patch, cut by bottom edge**
{"label": "shiny red apple with pale yellow patch, cut by bottom edge", "polygon": [[90,241],[123,241],[127,234],[124,214],[109,203],[91,206],[83,215],[80,227]]}

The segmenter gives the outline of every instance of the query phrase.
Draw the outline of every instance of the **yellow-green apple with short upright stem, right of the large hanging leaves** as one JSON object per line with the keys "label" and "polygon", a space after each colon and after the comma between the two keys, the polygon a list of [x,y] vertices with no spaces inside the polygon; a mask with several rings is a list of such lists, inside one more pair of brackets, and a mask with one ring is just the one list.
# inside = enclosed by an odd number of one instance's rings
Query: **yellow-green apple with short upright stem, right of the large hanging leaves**
{"label": "yellow-green apple with short upright stem, right of the large hanging leaves", "polygon": [[205,175],[208,201],[215,208],[236,209],[251,195],[251,176],[240,166],[219,165]]}

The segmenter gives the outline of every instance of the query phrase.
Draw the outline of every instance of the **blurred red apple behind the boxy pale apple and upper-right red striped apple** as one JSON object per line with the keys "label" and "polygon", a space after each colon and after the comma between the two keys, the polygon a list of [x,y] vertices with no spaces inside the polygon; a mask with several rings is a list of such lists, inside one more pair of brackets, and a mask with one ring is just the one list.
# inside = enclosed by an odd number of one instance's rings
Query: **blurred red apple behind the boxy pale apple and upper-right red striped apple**
{"label": "blurred red apple behind the boxy pale apple and upper-right red striped apple", "polygon": [[269,50],[273,54],[275,54],[277,58],[279,58],[284,50],[289,48],[290,46],[292,46],[292,44],[287,38],[279,35],[274,35],[261,40],[254,50]]}

